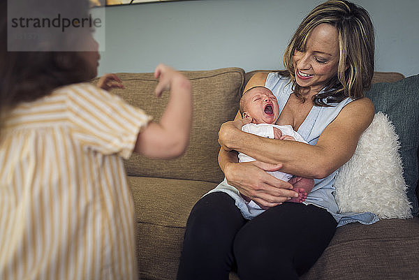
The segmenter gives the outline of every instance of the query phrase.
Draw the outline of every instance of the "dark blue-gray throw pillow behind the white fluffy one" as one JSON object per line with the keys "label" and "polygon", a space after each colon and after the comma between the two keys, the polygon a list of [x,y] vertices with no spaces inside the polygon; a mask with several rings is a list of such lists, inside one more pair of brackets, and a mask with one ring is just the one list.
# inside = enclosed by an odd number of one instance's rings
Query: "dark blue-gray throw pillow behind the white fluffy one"
{"label": "dark blue-gray throw pillow behind the white fluffy one", "polygon": [[372,100],[376,112],[385,112],[395,126],[401,145],[400,156],[404,179],[408,186],[407,197],[412,202],[412,214],[418,215],[418,146],[419,146],[419,75],[398,82],[372,84],[365,92]]}

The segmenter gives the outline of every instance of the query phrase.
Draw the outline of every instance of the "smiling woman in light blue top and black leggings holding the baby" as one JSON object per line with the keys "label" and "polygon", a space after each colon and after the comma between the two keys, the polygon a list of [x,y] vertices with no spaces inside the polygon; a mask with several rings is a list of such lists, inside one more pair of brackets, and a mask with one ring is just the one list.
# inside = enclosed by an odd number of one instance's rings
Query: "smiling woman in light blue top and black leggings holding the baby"
{"label": "smiling woman in light blue top and black leggings holding the baby", "polygon": [[[327,1],[304,18],[284,54],[286,71],[257,73],[246,89],[265,86],[277,97],[279,125],[291,124],[309,145],[260,138],[240,130],[237,114],[221,126],[219,165],[224,182],[193,207],[186,225],[178,279],[298,279],[314,265],[339,225],[373,223],[371,213],[337,214],[335,170],[355,152],[374,117],[363,95],[374,73],[374,29],[367,11]],[[246,90],[245,89],[245,90]],[[237,152],[256,162],[237,163]],[[302,203],[288,182],[265,171],[314,178]],[[247,221],[240,194],[265,208]]]}

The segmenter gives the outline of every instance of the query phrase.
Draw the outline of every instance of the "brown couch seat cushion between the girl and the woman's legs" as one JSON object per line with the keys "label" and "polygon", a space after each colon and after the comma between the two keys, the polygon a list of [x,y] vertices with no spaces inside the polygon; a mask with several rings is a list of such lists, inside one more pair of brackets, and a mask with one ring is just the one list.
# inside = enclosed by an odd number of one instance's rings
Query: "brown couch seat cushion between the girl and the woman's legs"
{"label": "brown couch seat cushion between the girl and the woman's legs", "polygon": [[175,279],[186,220],[216,183],[128,177],[135,204],[140,279]]}

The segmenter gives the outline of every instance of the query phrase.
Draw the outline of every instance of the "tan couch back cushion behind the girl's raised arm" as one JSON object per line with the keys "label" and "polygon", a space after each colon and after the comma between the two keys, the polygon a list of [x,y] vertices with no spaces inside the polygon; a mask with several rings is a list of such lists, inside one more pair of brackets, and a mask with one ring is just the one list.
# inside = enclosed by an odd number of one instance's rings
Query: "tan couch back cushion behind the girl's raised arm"
{"label": "tan couch back cushion behind the girl's raised arm", "polygon": [[[223,172],[218,165],[218,131],[224,121],[234,119],[244,83],[241,68],[211,71],[182,71],[191,80],[193,91],[193,127],[186,154],[170,161],[146,159],[133,154],[126,161],[131,176],[193,179],[221,182]],[[117,73],[126,89],[115,89],[131,103],[158,121],[168,102],[168,93],[154,96],[157,80],[152,73]]]}

